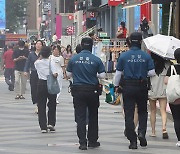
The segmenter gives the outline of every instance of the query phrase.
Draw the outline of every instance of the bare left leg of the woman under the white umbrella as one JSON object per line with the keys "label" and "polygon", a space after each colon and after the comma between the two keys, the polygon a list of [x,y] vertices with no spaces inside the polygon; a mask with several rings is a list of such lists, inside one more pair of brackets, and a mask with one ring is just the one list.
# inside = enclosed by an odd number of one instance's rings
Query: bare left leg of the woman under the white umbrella
{"label": "bare left leg of the woman under the white umbrella", "polygon": [[151,122],[151,128],[152,128],[152,134],[150,136],[155,137],[156,136],[156,100],[149,100],[150,103],[150,122]]}

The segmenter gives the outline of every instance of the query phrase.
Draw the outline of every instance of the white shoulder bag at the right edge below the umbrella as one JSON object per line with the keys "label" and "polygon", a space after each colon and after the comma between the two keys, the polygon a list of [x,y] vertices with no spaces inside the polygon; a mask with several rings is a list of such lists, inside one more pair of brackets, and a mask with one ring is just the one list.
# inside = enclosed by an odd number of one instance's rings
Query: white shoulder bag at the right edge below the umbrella
{"label": "white shoulder bag at the right edge below the umbrella", "polygon": [[168,102],[171,104],[176,104],[179,102],[176,100],[179,100],[180,98],[180,75],[177,74],[174,65],[171,65],[171,76],[168,79],[166,96]]}

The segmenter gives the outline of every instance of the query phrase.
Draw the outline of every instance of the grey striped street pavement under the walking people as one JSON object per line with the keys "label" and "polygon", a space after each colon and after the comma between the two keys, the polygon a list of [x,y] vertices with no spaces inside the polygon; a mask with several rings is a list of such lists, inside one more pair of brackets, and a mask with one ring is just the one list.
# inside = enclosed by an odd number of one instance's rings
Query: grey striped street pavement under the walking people
{"label": "grey striped street pavement under the walking people", "polygon": [[120,106],[104,103],[101,96],[99,109],[99,141],[101,147],[80,151],[74,122],[72,97],[67,92],[68,82],[63,82],[60,104],[57,106],[56,133],[42,134],[37,115],[30,99],[27,86],[26,99],[15,100],[15,93],[7,90],[0,77],[0,154],[179,154],[175,147],[176,138],[172,121],[168,120],[167,130],[170,139],[163,140],[161,119],[157,117],[157,137],[151,138],[148,122],[147,149],[129,150],[124,137],[124,119]]}

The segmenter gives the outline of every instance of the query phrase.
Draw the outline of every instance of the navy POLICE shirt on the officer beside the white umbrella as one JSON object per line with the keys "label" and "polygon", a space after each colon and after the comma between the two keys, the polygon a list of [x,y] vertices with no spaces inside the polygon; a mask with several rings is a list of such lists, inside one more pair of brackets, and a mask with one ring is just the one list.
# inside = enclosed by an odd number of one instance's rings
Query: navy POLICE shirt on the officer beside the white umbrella
{"label": "navy POLICE shirt on the officer beside the white umbrella", "polygon": [[132,47],[129,51],[122,53],[116,68],[124,72],[125,80],[146,79],[148,71],[152,69],[154,69],[154,63],[151,56],[138,47]]}

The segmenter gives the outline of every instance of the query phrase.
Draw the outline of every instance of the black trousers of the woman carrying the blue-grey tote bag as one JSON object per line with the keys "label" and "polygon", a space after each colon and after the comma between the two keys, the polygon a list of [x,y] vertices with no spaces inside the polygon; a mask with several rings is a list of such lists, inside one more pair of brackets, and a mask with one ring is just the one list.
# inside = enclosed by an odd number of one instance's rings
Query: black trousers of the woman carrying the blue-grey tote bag
{"label": "black trousers of the woman carrying the blue-grey tote bag", "polygon": [[[56,124],[56,96],[48,93],[47,81],[39,80],[37,85],[38,119],[41,130],[46,130],[47,125]],[[47,103],[48,99],[48,103]],[[48,115],[46,115],[46,105]],[[48,119],[47,119],[48,117]]]}

